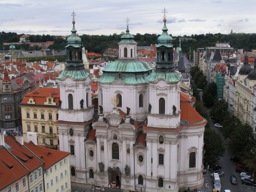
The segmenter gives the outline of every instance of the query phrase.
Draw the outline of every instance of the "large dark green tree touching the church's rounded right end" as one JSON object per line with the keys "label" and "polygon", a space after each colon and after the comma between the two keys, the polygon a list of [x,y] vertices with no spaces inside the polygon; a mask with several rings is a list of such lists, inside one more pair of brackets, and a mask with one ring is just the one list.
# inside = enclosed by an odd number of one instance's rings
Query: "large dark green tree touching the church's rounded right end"
{"label": "large dark green tree touching the church's rounded right end", "polygon": [[204,161],[208,164],[215,162],[225,152],[223,140],[215,130],[206,128],[203,136]]}

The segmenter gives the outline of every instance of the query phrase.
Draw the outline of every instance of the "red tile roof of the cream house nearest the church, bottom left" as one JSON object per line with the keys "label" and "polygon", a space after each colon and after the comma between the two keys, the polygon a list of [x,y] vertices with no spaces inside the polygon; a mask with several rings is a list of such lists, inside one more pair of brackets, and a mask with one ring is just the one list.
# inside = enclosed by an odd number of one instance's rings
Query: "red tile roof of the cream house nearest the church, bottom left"
{"label": "red tile roof of the cream house nearest the church, bottom left", "polygon": [[42,161],[44,161],[44,169],[48,169],[49,167],[53,166],[58,161],[62,160],[70,154],[69,152],[37,146],[32,142],[24,142],[24,145],[29,148],[29,150],[32,151],[36,156],[38,156]]}

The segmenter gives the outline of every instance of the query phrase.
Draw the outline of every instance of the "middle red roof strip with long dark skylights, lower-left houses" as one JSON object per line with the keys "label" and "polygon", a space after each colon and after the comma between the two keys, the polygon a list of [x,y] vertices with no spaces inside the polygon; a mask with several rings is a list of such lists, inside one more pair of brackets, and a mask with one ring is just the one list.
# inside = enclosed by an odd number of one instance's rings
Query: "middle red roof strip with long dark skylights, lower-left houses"
{"label": "middle red roof strip with long dark skylights, lower-left houses", "polygon": [[30,152],[25,146],[20,145],[20,143],[18,143],[13,137],[5,137],[5,143],[12,148],[10,149],[11,154],[16,156],[29,171],[33,171],[44,165],[44,162]]}

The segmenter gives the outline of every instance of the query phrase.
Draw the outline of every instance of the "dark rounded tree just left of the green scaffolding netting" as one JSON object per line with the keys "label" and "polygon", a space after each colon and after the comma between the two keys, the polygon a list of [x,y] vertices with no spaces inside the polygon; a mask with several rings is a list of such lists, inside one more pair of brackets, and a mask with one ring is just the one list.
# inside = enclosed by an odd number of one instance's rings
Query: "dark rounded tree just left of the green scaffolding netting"
{"label": "dark rounded tree just left of the green scaffolding netting", "polygon": [[217,98],[217,85],[215,82],[207,84],[203,90],[203,102],[212,106]]}

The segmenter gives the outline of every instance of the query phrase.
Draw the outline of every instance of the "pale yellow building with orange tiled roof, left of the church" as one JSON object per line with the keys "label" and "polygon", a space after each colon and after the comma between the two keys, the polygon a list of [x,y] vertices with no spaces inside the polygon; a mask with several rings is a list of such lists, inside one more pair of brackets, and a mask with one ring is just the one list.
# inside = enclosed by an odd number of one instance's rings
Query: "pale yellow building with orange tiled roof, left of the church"
{"label": "pale yellow building with orange tiled roof, left of the church", "polygon": [[27,141],[27,132],[36,132],[39,146],[59,149],[59,131],[55,125],[61,103],[59,90],[41,87],[25,95],[20,104],[24,141]]}

